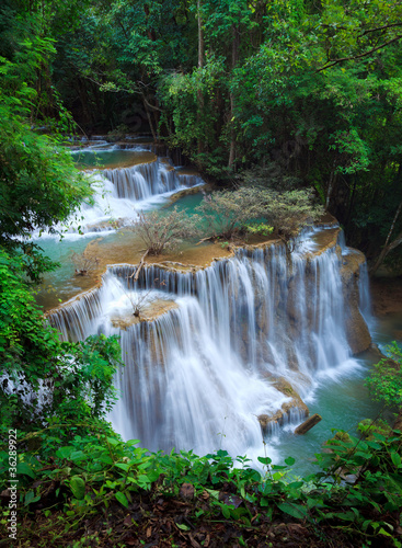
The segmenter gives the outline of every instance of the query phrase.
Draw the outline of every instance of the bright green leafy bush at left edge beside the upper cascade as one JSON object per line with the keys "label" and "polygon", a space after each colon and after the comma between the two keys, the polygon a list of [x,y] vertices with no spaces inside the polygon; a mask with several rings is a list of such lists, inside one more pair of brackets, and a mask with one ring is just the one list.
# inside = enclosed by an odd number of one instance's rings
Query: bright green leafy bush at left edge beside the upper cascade
{"label": "bright green leafy bush at left edge beside the upper cascade", "polygon": [[0,107],[0,244],[25,254],[32,277],[41,274],[39,248],[27,242],[33,230],[56,231],[88,198],[90,181],[55,140],[35,135],[7,106]]}

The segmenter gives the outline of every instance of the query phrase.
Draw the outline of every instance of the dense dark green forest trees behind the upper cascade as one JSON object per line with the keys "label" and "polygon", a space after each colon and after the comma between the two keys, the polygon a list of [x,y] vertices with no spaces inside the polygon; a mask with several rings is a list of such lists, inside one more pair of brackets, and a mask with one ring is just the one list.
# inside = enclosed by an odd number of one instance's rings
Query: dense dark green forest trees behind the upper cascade
{"label": "dense dark green forest trees behind the upper cascade", "polygon": [[382,260],[402,240],[401,15],[384,0],[4,0],[2,99],[34,129],[150,133],[220,182],[312,185]]}

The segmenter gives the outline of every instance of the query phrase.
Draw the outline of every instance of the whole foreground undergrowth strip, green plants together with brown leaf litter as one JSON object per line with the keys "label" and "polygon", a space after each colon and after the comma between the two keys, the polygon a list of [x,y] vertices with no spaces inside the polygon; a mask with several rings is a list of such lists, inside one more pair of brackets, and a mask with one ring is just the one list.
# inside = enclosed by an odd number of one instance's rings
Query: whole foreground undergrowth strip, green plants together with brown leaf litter
{"label": "whole foreground undergrowth strip, green plants together with brown leaf litter", "polygon": [[[18,546],[402,546],[399,431],[336,436],[318,471],[297,478],[291,457],[260,457],[259,471],[225,450],[149,453],[97,429],[72,432],[54,456],[26,449],[51,429],[19,441]],[[1,450],[1,546],[12,543],[8,468]]]}

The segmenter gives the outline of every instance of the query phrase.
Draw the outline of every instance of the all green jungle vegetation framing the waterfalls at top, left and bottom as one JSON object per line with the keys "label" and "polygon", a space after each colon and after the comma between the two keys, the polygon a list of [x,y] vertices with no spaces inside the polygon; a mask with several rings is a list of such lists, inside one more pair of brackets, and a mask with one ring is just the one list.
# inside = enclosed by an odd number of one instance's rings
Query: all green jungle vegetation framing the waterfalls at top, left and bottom
{"label": "all green jungle vegetation framing the waterfalls at top, left and bottom", "polygon": [[[397,263],[401,21],[399,0],[1,2],[0,546],[10,429],[19,546],[401,546],[400,431],[335,436],[303,479],[294,458],[261,473],[123,443],[105,421],[118,342],[60,343],[30,290],[56,265],[26,238],[91,199],[67,136],[149,133],[218,185],[314,192],[374,270]],[[386,366],[371,385],[400,407]]]}

